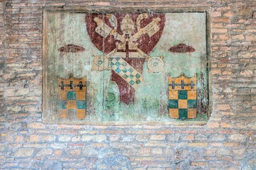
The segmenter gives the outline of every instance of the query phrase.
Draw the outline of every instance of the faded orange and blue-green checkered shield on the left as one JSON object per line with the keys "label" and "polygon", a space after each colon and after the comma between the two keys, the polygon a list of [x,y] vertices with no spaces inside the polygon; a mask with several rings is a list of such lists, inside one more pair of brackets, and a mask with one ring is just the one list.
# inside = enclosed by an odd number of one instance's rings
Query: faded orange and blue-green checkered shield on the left
{"label": "faded orange and blue-green checkered shield on the left", "polygon": [[86,77],[68,79],[58,77],[59,119],[83,119],[86,117]]}

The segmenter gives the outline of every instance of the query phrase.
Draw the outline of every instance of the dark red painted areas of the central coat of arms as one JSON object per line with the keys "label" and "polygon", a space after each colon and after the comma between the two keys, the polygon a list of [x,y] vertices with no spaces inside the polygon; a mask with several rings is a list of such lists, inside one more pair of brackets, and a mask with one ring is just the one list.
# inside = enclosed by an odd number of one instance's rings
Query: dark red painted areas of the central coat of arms
{"label": "dark red painted areas of the central coat of arms", "polygon": [[[122,35],[121,29],[120,29],[120,23],[122,19],[125,17],[126,13],[123,14],[115,14],[118,22],[117,32]],[[136,25],[136,19],[139,14],[129,14],[130,17],[134,21],[135,31],[132,33],[134,35],[138,32],[137,25]],[[99,19],[103,20],[106,25],[114,29],[109,20],[106,18],[105,15],[101,14],[89,14],[86,16],[86,25],[87,25],[87,31],[88,34],[94,43],[94,45],[104,53],[108,54],[111,51],[113,51],[116,48],[116,39],[114,39],[113,35],[109,35],[105,38],[104,41],[104,48],[103,48],[103,37],[101,37],[98,33],[95,32],[95,28],[97,27],[96,22],[93,20],[95,17],[98,17]],[[148,37],[146,34],[143,34],[136,42],[138,43],[138,48],[143,51],[145,54],[150,54],[159,39],[161,38],[164,23],[165,23],[165,15],[162,13],[156,13],[156,14],[148,14],[148,18],[142,19],[140,23],[140,27],[143,28],[148,23],[152,22],[154,18],[159,17],[161,20],[158,22],[159,31],[154,34],[152,37]],[[125,53],[125,52],[124,52]],[[126,58],[123,58],[127,63],[129,63],[133,68],[135,68],[140,74],[142,74],[143,64],[145,62],[145,58],[129,58],[126,56]],[[134,96],[135,96],[135,89],[127,83],[124,79],[122,79],[115,71],[112,71],[111,74],[111,81],[116,82],[119,88],[119,97],[120,102],[125,103],[126,105],[134,102]]]}

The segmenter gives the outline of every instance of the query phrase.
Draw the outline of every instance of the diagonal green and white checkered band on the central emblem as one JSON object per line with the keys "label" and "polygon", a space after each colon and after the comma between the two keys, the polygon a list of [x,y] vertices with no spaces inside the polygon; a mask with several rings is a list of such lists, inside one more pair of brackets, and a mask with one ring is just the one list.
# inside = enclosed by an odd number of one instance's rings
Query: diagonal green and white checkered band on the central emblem
{"label": "diagonal green and white checkered band on the central emblem", "polygon": [[143,81],[142,75],[122,58],[111,58],[112,69],[133,88]]}

